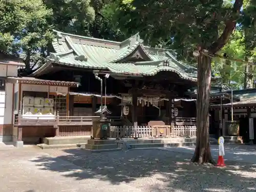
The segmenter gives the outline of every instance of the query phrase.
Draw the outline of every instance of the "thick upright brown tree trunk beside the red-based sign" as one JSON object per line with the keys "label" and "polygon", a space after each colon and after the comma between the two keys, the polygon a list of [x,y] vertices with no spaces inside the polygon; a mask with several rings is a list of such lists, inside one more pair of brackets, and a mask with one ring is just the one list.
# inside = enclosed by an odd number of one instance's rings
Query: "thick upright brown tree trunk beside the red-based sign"
{"label": "thick upright brown tree trunk beside the red-based sign", "polygon": [[197,90],[197,143],[191,162],[212,163],[209,143],[209,101],[211,80],[211,58],[200,54],[198,57]]}

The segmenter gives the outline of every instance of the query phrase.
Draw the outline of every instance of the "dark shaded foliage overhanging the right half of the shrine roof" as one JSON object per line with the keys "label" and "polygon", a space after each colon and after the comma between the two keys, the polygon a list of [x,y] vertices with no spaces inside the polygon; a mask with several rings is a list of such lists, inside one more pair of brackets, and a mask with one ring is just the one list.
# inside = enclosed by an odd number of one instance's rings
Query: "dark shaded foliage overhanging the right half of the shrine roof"
{"label": "dark shaded foliage overhanging the right half of the shrine roof", "polygon": [[231,14],[230,3],[223,4],[220,0],[202,2],[123,1],[122,11],[117,14],[127,33],[140,31],[152,46],[175,49],[186,58],[198,45],[209,48],[230,17],[239,17],[239,14]]}

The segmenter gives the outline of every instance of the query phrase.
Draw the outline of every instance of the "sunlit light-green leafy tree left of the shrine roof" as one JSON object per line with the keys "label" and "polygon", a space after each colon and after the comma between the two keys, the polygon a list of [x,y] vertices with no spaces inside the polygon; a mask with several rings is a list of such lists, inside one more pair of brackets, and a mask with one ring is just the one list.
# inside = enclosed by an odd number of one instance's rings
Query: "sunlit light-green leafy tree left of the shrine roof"
{"label": "sunlit light-green leafy tree left of the shrine roof", "polygon": [[40,0],[2,0],[0,52],[14,55],[25,53],[26,69],[30,71],[31,62],[46,54],[46,47],[53,38],[49,25],[51,16],[52,10]]}

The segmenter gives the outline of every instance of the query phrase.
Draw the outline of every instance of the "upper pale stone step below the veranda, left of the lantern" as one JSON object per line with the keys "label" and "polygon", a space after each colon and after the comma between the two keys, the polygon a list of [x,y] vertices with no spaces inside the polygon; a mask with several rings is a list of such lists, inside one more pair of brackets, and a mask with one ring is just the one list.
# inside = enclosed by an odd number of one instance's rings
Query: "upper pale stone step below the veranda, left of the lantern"
{"label": "upper pale stone step below the veranda, left of the lantern", "polygon": [[77,144],[77,143],[87,143],[89,139],[91,139],[91,136],[47,137],[47,138],[44,138],[44,143],[48,145]]}

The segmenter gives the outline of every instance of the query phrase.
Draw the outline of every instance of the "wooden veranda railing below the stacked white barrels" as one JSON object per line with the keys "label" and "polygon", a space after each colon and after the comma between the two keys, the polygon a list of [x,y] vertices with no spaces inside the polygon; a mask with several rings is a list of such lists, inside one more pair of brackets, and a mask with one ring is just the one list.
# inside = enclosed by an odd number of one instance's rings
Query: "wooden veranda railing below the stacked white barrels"
{"label": "wooden veranda railing below the stacked white barrels", "polygon": [[93,119],[99,119],[99,116],[59,116],[54,115],[22,115],[19,113],[15,116],[15,125],[92,125]]}

